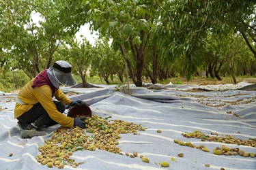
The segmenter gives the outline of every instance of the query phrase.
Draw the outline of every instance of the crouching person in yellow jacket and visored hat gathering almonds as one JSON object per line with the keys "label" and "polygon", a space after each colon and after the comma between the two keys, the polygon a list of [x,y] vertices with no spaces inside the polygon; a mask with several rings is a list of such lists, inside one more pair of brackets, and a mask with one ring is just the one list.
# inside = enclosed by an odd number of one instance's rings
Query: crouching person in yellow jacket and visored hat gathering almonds
{"label": "crouching person in yellow jacket and visored hat gathering almonds", "polygon": [[[29,81],[18,93],[14,109],[14,118],[24,131],[23,138],[46,135],[38,131],[42,126],[61,124],[72,128],[85,128],[84,118],[70,118],[62,114],[66,105],[80,105],[82,101],[72,101],[61,91],[59,86],[73,86],[72,66],[66,61],[57,61],[53,67],[39,73]],[[53,97],[58,101],[53,101]]]}

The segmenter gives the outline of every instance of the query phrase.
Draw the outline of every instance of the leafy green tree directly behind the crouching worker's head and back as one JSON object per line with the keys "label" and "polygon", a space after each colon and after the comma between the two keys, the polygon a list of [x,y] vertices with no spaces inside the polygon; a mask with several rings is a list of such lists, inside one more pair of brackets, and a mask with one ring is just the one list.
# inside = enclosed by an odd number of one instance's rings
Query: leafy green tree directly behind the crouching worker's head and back
{"label": "leafy green tree directly behind the crouching worker's head and back", "polygon": [[[31,3],[27,5],[27,2]],[[15,8],[11,10],[14,13],[12,22],[2,27],[4,29],[0,34],[9,42],[5,51],[12,56],[8,58],[8,63],[12,63],[12,68],[22,69],[29,78],[33,78],[42,69],[48,69],[52,65],[55,51],[66,36],[74,34],[74,31],[66,29],[60,22],[61,7],[55,5],[54,1],[18,1],[14,5],[12,1],[8,1],[8,5],[7,7],[14,6],[17,9],[27,7],[25,13],[16,18]],[[40,14],[39,23],[33,22],[32,12]]]}

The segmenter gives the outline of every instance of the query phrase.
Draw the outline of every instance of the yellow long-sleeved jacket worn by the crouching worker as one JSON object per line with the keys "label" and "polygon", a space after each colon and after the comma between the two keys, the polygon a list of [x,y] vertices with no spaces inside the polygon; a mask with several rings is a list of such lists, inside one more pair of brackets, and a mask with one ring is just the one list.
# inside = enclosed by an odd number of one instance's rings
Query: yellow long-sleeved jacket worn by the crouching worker
{"label": "yellow long-sleeved jacket worn by the crouching worker", "polygon": [[[20,103],[16,103],[14,118],[18,118],[20,115],[27,112],[36,103],[41,103],[51,119],[61,124],[61,126],[71,128],[74,125],[74,119],[61,114],[61,112],[57,110],[56,105],[53,103],[51,87],[44,85],[32,88],[33,80],[29,81],[18,93],[18,99],[26,104],[21,105]],[[72,100],[68,99],[59,88],[55,90],[54,96],[58,101],[65,103],[66,105],[70,105],[72,102]]]}

